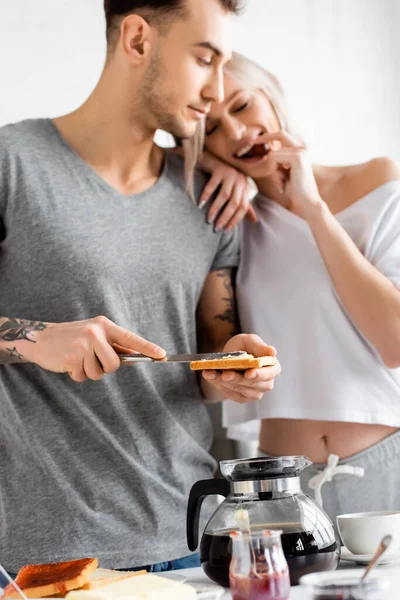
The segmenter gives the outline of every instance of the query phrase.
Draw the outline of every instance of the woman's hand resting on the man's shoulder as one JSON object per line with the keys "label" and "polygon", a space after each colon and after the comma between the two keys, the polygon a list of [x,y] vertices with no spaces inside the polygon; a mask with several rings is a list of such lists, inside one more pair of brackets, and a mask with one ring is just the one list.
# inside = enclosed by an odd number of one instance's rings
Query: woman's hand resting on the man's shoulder
{"label": "woman's hand resting on the man's shoulder", "polygon": [[252,223],[257,222],[256,212],[249,199],[250,184],[245,175],[209,152],[203,153],[199,166],[206,173],[211,173],[210,181],[200,197],[199,207],[203,208],[220,188],[207,216],[208,222],[214,223],[219,215],[215,222],[216,231],[232,231],[245,216]]}

